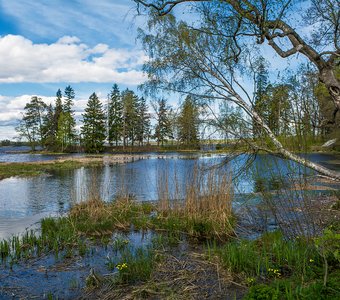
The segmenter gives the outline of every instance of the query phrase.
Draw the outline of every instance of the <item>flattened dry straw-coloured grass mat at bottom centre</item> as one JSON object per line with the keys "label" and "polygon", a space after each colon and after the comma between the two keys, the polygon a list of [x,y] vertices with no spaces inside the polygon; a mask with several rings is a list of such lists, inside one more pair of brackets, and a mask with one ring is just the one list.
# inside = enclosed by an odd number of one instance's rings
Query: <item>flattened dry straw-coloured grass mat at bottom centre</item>
{"label": "flattened dry straw-coloured grass mat at bottom centre", "polygon": [[235,284],[219,263],[197,251],[161,253],[150,280],[135,285],[106,286],[82,299],[241,299],[245,287]]}

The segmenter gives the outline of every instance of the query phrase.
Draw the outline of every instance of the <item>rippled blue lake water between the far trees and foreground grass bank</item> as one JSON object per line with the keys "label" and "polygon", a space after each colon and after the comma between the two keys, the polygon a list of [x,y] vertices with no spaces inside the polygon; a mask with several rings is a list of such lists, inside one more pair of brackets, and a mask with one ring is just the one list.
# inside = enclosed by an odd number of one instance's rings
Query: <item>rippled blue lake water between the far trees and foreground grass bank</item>
{"label": "rippled blue lake water between the far trees and foreground grass bank", "polygon": [[[1,149],[1,148],[0,148]],[[182,155],[167,154],[127,164],[106,165],[103,167],[81,167],[75,170],[55,171],[49,175],[31,178],[12,177],[0,181],[0,239],[23,232],[28,226],[42,217],[67,212],[75,203],[93,195],[100,195],[105,201],[112,200],[122,189],[141,201],[158,199],[159,178],[167,176],[170,190],[177,186],[178,195],[185,192],[185,183],[193,174],[195,166],[208,170],[222,165],[224,172],[235,177],[233,180],[236,202],[242,202],[245,195],[257,190],[263,184],[258,178],[266,178],[265,184],[275,187],[278,175],[289,178],[298,173],[311,173],[294,163],[268,155],[258,155],[251,163],[248,172],[242,167],[250,156],[240,155],[225,165],[223,155]],[[53,156],[5,153],[0,150],[0,161],[36,161],[53,159]],[[334,163],[340,157],[326,154],[309,154],[308,158],[328,167],[339,170]],[[174,182],[176,178],[176,183]]]}

